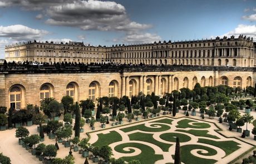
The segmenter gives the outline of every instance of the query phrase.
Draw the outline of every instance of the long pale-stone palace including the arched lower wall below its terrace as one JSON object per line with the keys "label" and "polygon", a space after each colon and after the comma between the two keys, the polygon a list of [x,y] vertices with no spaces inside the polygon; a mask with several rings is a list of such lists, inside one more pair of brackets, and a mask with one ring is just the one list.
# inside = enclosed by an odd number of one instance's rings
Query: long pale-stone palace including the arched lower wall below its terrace
{"label": "long pale-stone palace including the arched lower wall below its terrace", "polygon": [[[161,96],[183,87],[193,89],[197,82],[203,87],[254,86],[255,46],[252,38],[243,36],[112,47],[80,42],[13,44],[6,46],[7,62],[74,64],[0,66],[0,106],[19,110],[40,105],[47,97],[61,101],[66,95],[75,101],[139,92]],[[119,64],[85,64],[91,62]]]}

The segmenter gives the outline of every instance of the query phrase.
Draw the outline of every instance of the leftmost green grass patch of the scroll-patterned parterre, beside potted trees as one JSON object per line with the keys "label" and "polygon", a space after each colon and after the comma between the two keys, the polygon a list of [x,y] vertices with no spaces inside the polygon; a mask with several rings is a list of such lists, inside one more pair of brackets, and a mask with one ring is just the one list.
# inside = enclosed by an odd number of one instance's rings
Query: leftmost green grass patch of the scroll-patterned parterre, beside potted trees
{"label": "leftmost green grass patch of the scroll-patterned parterre, beside potted trees", "polygon": [[122,136],[116,131],[111,131],[107,134],[100,133],[98,134],[98,137],[99,139],[97,142],[93,143],[92,145],[99,146],[100,148],[104,145],[110,145],[111,143],[122,141]]}

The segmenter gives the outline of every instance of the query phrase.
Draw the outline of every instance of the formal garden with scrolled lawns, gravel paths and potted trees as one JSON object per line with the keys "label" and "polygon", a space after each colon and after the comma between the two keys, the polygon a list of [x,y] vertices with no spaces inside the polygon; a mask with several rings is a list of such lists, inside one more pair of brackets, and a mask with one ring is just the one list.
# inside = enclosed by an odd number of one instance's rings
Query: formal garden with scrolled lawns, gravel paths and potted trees
{"label": "formal garden with scrolled lawns, gravel paths and potted trees", "polygon": [[0,107],[0,126],[17,137],[13,147],[43,163],[173,163],[176,138],[183,163],[234,162],[254,148],[255,94],[253,87],[196,83],[163,97],[140,92],[96,104],[45,98],[19,111]]}

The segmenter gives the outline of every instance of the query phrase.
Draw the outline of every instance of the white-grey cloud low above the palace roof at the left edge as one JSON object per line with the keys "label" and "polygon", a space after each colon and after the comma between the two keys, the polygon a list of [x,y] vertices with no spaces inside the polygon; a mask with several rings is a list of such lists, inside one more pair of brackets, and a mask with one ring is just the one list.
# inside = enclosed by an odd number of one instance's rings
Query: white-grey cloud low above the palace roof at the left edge
{"label": "white-grey cloud low above the palace roof at the left edge", "polygon": [[29,39],[41,39],[49,32],[41,29],[33,29],[21,24],[12,26],[0,26],[0,37],[13,39],[16,41],[26,41]]}

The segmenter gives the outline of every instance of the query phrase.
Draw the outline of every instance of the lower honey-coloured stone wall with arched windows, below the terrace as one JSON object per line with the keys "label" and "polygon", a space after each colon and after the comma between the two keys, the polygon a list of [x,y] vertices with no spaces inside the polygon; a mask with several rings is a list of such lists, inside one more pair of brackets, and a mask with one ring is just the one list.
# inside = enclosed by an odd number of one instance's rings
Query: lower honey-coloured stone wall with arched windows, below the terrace
{"label": "lower honey-coloured stone wall with arched windows, below the terrace", "polygon": [[[40,98],[53,97],[61,101],[71,94],[75,101],[102,96],[129,96],[139,92],[164,95],[186,87],[228,85],[230,87],[254,86],[254,68],[213,66],[116,66],[115,68],[90,68],[86,70],[38,70],[0,71],[0,106],[17,108],[27,104],[40,105]],[[71,86],[71,87],[69,87]],[[14,90],[15,89],[15,90]],[[71,93],[72,92],[72,93]],[[13,98],[20,98],[18,101]],[[17,96],[18,95],[18,96]]]}

